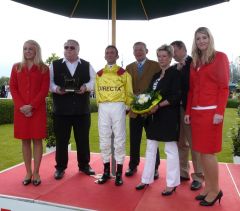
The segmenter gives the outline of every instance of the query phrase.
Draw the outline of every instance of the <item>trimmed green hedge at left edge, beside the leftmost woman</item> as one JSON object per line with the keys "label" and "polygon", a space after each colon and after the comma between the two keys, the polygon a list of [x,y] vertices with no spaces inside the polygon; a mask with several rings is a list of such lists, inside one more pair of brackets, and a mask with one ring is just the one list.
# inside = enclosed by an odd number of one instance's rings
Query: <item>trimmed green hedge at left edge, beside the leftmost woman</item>
{"label": "trimmed green hedge at left edge, beside the leftmost woman", "polygon": [[0,100],[0,125],[13,123],[13,101],[11,99]]}

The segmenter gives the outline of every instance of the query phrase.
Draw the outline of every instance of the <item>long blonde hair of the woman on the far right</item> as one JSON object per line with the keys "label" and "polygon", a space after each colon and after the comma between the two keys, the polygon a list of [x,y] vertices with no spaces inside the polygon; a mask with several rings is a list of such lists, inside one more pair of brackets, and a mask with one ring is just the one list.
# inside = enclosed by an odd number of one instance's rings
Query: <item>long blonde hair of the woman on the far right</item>
{"label": "long blonde hair of the woman on the far right", "polygon": [[[196,35],[197,33],[205,34],[209,39],[209,45],[206,53],[202,54],[202,52],[198,49],[196,44]],[[216,54],[216,50],[214,47],[214,39],[210,30],[206,27],[199,27],[194,34],[193,45],[192,45],[192,59],[193,59],[193,67],[199,67],[203,64],[209,64],[212,62]]]}

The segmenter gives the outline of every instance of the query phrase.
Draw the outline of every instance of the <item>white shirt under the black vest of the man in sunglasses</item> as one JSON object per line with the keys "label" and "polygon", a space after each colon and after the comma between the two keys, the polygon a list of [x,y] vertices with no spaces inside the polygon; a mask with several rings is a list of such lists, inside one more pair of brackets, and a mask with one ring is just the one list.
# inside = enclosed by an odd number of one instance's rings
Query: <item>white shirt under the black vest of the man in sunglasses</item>
{"label": "white shirt under the black vest of the man in sunglasses", "polygon": [[[73,76],[78,66],[78,63],[81,64],[81,59],[78,58],[75,62],[71,63],[66,58],[63,58],[63,63],[64,62],[66,63],[70,74]],[[52,64],[50,65],[49,69],[50,69],[50,92],[56,92],[56,88],[58,86],[54,83],[54,71],[53,71]],[[90,92],[94,90],[94,84],[95,84],[95,78],[96,78],[96,72],[94,71],[91,64],[89,64],[89,75],[90,75],[90,80],[89,82],[85,83],[85,85],[86,85],[87,91]]]}

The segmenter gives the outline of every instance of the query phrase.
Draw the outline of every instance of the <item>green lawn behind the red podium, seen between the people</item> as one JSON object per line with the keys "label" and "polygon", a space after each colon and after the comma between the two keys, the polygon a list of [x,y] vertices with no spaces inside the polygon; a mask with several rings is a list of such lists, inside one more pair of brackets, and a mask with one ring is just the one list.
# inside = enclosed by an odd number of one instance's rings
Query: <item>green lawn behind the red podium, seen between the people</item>
{"label": "green lawn behind the red podium, seen between the people", "polygon": [[[229,128],[236,123],[236,109],[228,108],[225,113],[224,129],[223,129],[223,150],[219,153],[218,160],[221,162],[232,162],[232,140],[229,137]],[[129,128],[127,119],[127,141],[126,151],[129,155]],[[98,142],[98,117],[97,113],[92,113],[92,124],[90,129],[90,149],[91,152],[99,152]],[[76,150],[73,135],[71,136],[72,150]],[[44,143],[45,146],[45,143]],[[143,134],[141,145],[141,156],[144,156],[146,148],[146,136]],[[165,158],[163,152],[164,144],[160,143],[160,156]],[[22,162],[21,141],[13,138],[13,125],[0,125],[0,170]]]}

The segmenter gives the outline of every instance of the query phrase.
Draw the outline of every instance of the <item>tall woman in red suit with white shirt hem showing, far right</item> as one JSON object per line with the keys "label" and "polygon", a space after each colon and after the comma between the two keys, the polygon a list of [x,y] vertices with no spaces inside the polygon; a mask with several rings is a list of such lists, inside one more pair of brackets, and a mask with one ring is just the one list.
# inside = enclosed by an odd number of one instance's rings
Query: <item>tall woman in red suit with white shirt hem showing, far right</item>
{"label": "tall woman in red suit with white shirt hem showing, far right", "polygon": [[209,29],[196,30],[192,47],[190,89],[185,115],[191,124],[192,147],[200,153],[205,187],[196,200],[202,206],[212,206],[221,200],[218,162],[215,153],[222,149],[223,115],[228,99],[229,61],[214,49]]}

